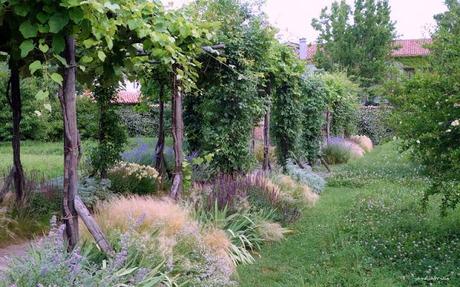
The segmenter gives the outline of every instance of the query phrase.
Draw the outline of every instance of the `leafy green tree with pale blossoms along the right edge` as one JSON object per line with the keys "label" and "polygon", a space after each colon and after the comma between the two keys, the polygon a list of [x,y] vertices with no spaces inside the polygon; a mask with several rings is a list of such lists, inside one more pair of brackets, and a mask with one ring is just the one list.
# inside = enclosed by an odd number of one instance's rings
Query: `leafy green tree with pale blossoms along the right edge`
{"label": "leafy green tree with pale blossoms along the right edge", "polygon": [[403,148],[431,177],[424,202],[441,195],[443,214],[460,202],[460,3],[435,17],[432,71],[419,73],[391,97],[392,122]]}

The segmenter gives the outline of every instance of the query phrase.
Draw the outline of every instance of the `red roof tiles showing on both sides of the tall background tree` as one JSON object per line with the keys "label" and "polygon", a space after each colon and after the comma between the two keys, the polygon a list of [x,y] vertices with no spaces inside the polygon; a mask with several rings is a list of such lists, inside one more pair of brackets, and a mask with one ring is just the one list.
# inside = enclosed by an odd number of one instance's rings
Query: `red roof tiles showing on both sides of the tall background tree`
{"label": "red roof tiles showing on both sides of the tall background tree", "polygon": [[[395,40],[393,45],[396,47],[391,55],[397,57],[417,57],[428,56],[430,50],[424,46],[431,44],[431,39]],[[307,49],[307,60],[313,59],[318,50],[317,44],[309,44]]]}

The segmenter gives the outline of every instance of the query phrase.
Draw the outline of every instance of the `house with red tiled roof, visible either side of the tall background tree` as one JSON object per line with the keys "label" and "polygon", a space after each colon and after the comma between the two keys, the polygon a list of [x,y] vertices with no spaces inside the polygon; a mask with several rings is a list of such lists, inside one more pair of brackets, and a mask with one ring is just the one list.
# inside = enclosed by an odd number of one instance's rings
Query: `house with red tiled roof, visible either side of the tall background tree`
{"label": "house with red tiled roof, visible either side of the tall background tree", "polygon": [[[427,56],[430,50],[426,47],[431,44],[431,39],[410,39],[395,40],[393,42],[393,58],[401,63],[406,72],[413,72],[418,68],[426,68],[428,64]],[[307,44],[306,39],[300,39],[299,44],[290,43],[290,46],[297,49],[300,59],[306,60],[309,64],[313,63],[318,45],[315,43]]]}

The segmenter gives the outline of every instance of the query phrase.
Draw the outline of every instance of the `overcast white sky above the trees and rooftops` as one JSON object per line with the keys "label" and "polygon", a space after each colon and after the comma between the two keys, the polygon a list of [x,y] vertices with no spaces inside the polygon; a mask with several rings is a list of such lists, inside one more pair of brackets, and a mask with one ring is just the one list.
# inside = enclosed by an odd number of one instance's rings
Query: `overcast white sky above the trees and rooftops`
{"label": "overcast white sky above the trees and rooftops", "polygon": [[[190,0],[162,0],[165,4],[183,5]],[[433,15],[445,11],[443,0],[389,0],[392,19],[401,39],[416,39],[429,36],[434,26]],[[284,40],[297,42],[305,37],[308,42],[316,40],[317,33],[311,27],[311,20],[319,17],[324,6],[333,0],[266,0],[264,11],[270,22],[276,26]],[[352,4],[353,0],[347,0]]]}

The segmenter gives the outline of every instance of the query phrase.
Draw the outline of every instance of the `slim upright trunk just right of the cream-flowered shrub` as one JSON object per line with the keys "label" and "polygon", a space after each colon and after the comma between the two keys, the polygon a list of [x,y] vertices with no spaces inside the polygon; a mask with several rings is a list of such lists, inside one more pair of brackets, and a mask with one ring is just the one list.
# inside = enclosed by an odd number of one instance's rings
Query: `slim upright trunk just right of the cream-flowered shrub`
{"label": "slim upright trunk just right of the cream-flowered shrub", "polygon": [[182,172],[182,141],[184,138],[184,121],[182,118],[182,93],[179,91],[179,80],[177,75],[174,73],[172,76],[172,135],[174,143],[174,177],[173,184],[171,187],[170,196],[174,199],[178,199],[183,189],[183,172]]}

